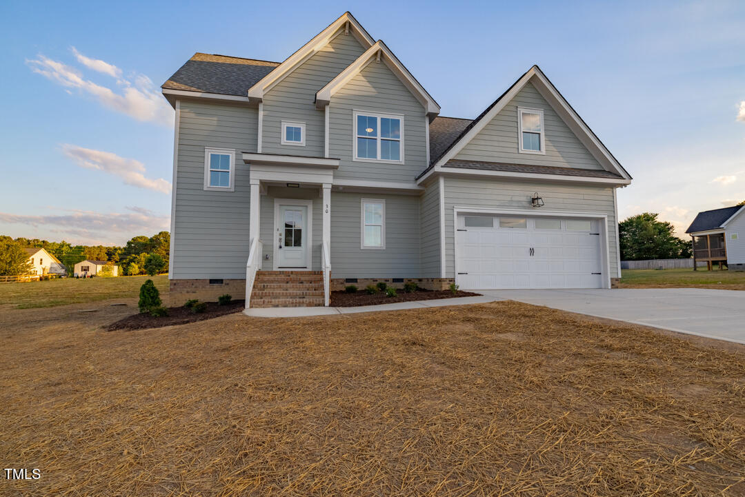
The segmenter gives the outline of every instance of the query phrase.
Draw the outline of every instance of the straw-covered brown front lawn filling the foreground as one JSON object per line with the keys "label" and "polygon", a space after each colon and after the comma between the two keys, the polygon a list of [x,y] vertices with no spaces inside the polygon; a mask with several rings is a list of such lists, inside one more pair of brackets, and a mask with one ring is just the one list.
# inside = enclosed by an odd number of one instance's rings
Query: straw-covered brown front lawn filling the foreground
{"label": "straw-covered brown front lawn filling the foreground", "polygon": [[[543,307],[0,314],[1,495],[744,496],[745,354]],[[714,342],[711,342],[713,344]]]}

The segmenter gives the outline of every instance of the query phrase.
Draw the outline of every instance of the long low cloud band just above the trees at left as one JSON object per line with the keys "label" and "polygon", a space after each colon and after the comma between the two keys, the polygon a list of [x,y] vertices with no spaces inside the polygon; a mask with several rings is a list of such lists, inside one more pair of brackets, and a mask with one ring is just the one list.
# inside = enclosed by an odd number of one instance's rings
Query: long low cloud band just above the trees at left
{"label": "long low cloud band just above the trees at left", "polygon": [[[54,211],[54,208],[50,210]],[[142,209],[142,211],[147,211],[149,214],[98,213],[66,209],[57,209],[57,213],[44,216],[0,212],[0,223],[23,225],[25,234],[16,236],[29,236],[35,231],[33,228],[40,228],[39,234],[31,236],[48,238],[48,233],[54,233],[59,235],[57,239],[65,238],[72,243],[124,244],[136,235],[151,235],[159,231],[168,231],[170,224],[168,216],[156,216],[147,209]]]}

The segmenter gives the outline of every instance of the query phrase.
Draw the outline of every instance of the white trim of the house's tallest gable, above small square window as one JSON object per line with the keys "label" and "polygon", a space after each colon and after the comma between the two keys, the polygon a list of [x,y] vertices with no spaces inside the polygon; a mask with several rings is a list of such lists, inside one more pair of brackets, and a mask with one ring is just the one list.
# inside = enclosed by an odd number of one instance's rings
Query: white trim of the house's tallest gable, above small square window
{"label": "white trim of the house's tallest gable, above small square window", "polygon": [[285,79],[285,77],[297,69],[302,62],[305,62],[305,60],[308,60],[308,58],[316,54],[317,51],[320,51],[323,47],[328,45],[329,42],[331,42],[339,33],[347,32],[351,32],[363,47],[370,47],[374,43],[374,40],[369,34],[367,34],[367,31],[365,31],[360,23],[357,22],[357,19],[355,19],[351,13],[345,12],[339,19],[332,22],[328,28],[318,33],[313,39],[311,39],[311,41],[305,43],[305,45],[302,45],[298,51],[285,59],[285,62],[276,66],[276,68],[274,68],[269,74],[261,78],[258,83],[248,89],[247,97],[252,102],[261,102],[264,98],[265,92]]}

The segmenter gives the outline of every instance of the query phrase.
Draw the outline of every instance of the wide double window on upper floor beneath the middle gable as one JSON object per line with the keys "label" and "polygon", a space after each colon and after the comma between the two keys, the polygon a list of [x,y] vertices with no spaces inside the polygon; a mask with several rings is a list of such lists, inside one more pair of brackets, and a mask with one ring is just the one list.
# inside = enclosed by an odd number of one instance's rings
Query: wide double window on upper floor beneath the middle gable
{"label": "wide double window on upper floor beneath the middle gable", "polygon": [[355,161],[404,161],[404,116],[354,112]]}

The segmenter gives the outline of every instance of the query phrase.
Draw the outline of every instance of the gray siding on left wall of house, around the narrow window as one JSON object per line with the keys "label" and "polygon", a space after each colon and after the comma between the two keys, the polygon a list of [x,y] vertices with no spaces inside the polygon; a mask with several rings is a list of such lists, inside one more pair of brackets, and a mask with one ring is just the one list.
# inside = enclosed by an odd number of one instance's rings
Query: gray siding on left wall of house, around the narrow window
{"label": "gray siding on left wall of house, around the narrow window", "polygon": [[[180,106],[171,278],[245,278],[250,185],[241,152],[256,151],[256,109],[191,100]],[[205,147],[235,149],[235,191],[204,190]]]}

